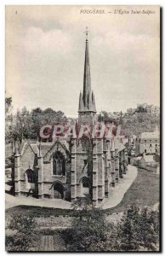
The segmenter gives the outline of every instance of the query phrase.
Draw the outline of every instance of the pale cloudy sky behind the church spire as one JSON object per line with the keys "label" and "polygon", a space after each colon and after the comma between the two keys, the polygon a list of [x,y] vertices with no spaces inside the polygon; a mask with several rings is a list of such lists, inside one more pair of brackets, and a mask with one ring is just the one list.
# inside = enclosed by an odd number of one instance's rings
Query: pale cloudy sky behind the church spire
{"label": "pale cloudy sky behind the church spire", "polygon": [[[105,14],[80,14],[81,9]],[[129,14],[114,14],[115,9]],[[6,93],[14,111],[53,108],[77,116],[86,26],[97,112],[160,105],[158,7],[7,6]]]}

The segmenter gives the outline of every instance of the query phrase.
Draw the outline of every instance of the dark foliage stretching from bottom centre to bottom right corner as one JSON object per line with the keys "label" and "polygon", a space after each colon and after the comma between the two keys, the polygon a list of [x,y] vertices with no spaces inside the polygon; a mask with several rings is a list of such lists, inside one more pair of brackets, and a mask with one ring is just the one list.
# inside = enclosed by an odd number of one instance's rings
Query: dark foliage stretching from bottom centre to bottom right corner
{"label": "dark foliage stretching from bottom centre to bottom right corner", "polygon": [[147,207],[130,207],[117,224],[109,223],[104,212],[77,202],[71,229],[63,232],[67,250],[156,251],[159,241],[159,212]]}

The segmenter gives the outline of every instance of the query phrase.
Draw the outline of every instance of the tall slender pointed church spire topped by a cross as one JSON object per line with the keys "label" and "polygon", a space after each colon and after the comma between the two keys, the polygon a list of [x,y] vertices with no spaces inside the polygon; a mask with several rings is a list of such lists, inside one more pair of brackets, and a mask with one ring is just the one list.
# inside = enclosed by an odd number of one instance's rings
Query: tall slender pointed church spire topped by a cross
{"label": "tall slender pointed church spire topped by a cross", "polygon": [[85,62],[83,73],[83,95],[80,93],[78,112],[96,112],[94,92],[91,91],[90,64],[88,54],[88,27],[86,27]]}

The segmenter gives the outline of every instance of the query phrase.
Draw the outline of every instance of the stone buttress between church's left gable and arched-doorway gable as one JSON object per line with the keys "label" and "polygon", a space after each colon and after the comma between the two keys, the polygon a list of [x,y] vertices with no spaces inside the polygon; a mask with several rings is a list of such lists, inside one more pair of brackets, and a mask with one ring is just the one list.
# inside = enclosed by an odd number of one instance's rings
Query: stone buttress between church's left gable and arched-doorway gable
{"label": "stone buttress between church's left gable and arched-doorway gable", "polygon": [[43,198],[43,156],[37,157],[38,163],[38,198]]}

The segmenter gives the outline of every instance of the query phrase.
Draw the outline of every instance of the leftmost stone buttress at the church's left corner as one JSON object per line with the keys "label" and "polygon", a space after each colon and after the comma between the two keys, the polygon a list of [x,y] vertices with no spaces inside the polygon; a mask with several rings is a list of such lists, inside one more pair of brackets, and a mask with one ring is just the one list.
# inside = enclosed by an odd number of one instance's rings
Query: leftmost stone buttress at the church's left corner
{"label": "leftmost stone buttress at the church's left corner", "polygon": [[14,154],[14,192],[20,196],[20,153]]}

